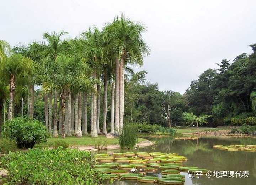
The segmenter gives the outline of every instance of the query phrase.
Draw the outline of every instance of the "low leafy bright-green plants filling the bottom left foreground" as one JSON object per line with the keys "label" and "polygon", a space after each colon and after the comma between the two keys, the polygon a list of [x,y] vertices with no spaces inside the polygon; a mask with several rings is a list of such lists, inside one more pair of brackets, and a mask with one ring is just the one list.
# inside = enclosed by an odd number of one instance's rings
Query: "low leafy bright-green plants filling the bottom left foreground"
{"label": "low leafy bright-green plants filling the bottom left foreground", "polygon": [[10,184],[101,184],[90,152],[76,149],[29,149],[0,158],[9,171]]}

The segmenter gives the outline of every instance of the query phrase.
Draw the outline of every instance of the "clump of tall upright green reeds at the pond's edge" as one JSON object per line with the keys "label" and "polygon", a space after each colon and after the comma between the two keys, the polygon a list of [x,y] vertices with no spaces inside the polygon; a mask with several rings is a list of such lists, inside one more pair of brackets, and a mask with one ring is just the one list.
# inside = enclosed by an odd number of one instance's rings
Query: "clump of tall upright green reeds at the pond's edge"
{"label": "clump of tall upright green reeds at the pond's edge", "polygon": [[124,124],[123,132],[118,135],[118,141],[121,149],[133,149],[138,143],[138,127],[133,123]]}

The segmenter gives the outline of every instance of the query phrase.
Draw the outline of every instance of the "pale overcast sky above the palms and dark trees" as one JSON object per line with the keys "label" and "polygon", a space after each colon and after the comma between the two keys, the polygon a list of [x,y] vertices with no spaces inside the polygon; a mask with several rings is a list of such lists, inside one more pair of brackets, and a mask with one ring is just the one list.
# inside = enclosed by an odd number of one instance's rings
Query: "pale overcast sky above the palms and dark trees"
{"label": "pale overcast sky above the palms and dark trees", "polygon": [[3,0],[0,39],[29,43],[60,30],[75,37],[121,13],[146,25],[151,55],[136,70],[147,70],[160,90],[183,94],[206,69],[251,53],[256,42],[255,0]]}

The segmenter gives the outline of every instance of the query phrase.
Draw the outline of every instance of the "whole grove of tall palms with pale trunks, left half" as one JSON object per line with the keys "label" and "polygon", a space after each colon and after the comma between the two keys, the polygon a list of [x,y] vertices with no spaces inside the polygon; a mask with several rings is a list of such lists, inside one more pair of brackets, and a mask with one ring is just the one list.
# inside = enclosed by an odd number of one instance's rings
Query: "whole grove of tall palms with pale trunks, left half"
{"label": "whole grove of tall palms with pale trunks, left half", "polygon": [[[0,42],[1,81],[10,90],[8,119],[14,116],[17,85],[28,86],[28,114],[34,114],[34,86],[42,87],[45,102],[45,125],[53,137],[58,134],[81,137],[87,132],[87,100],[91,97],[91,136],[100,132],[100,87],[103,81],[103,133],[107,133],[107,89],[111,83],[111,133],[123,131],[124,69],[143,64],[149,48],[143,41],[145,28],[121,15],[74,39],[68,34],[43,34],[44,41],[28,45]],[[129,70],[129,68],[127,67]],[[53,107],[52,107],[53,99]],[[59,132],[58,123],[58,99]],[[53,111],[53,112],[52,112]],[[52,120],[53,115],[53,120]],[[53,122],[53,131],[52,131]]]}

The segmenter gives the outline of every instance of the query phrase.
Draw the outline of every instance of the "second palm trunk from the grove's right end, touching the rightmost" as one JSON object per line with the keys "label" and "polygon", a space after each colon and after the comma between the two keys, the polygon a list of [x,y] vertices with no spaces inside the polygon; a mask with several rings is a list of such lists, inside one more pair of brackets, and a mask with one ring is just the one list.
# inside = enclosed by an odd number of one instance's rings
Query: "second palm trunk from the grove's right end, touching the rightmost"
{"label": "second palm trunk from the grove's right end, touching the rightmost", "polygon": [[114,114],[115,114],[115,130],[119,132],[119,83],[120,83],[120,62],[118,58],[115,60],[116,69],[115,69],[115,106],[114,106]]}

